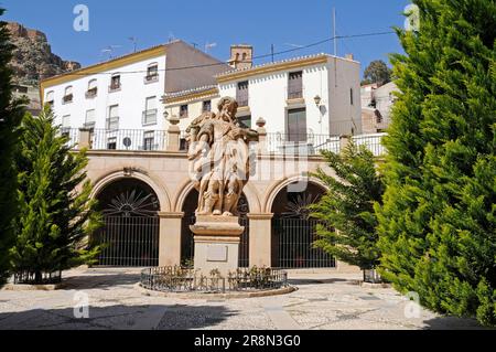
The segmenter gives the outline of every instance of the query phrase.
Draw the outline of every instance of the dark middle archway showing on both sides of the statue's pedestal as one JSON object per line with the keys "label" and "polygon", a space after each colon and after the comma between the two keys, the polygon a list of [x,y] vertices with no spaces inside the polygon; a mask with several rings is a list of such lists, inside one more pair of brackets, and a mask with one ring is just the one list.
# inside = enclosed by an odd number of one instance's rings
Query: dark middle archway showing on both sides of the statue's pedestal
{"label": "dark middle archway showing on both sides of the statue's pedestal", "polygon": [[[195,256],[194,235],[190,230],[190,225],[196,222],[195,211],[198,203],[198,191],[193,189],[186,196],[182,212],[184,217],[182,221],[181,231],[181,263],[183,265],[192,264]],[[247,268],[249,266],[249,220],[250,212],[247,198],[241,195],[238,204],[239,224],[245,226],[245,232],[241,235],[241,243],[239,244],[239,267]]]}

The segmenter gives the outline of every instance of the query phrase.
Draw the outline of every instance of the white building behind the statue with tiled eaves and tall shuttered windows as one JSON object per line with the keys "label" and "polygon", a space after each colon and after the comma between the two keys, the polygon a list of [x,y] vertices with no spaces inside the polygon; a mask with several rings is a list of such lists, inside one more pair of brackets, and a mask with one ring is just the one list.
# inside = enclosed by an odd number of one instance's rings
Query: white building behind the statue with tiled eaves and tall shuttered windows
{"label": "white building behind the statue with tiled eaves and tall shuttered windows", "polygon": [[339,136],[362,134],[358,62],[319,54],[240,67],[217,75],[217,85],[164,95],[166,114],[179,118],[183,137],[223,96],[237,99],[237,118],[246,127],[265,120],[271,152],[315,154],[337,149]]}

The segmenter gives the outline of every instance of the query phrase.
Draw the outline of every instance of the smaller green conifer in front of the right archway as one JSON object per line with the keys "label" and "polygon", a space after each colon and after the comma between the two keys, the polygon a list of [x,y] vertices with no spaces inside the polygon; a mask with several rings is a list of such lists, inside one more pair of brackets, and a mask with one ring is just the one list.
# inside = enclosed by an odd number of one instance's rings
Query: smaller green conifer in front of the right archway
{"label": "smaller green conifer in front of the right archway", "polygon": [[322,221],[315,246],[364,270],[375,269],[380,254],[374,203],[380,202],[385,186],[374,154],[351,142],[341,154],[324,151],[323,157],[335,175],[322,169],[314,174],[328,189],[310,206],[311,216]]}

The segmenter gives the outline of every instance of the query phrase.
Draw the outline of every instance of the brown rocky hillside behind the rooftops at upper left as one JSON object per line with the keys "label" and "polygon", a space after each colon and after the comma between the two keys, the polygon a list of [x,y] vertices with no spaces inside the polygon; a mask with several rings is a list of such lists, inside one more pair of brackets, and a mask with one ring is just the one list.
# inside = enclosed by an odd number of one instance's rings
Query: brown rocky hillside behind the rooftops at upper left
{"label": "brown rocky hillside behind the rooftops at upper left", "polygon": [[17,46],[11,63],[17,84],[37,86],[40,79],[80,68],[79,63],[53,54],[44,33],[15,22],[9,22],[8,29]]}

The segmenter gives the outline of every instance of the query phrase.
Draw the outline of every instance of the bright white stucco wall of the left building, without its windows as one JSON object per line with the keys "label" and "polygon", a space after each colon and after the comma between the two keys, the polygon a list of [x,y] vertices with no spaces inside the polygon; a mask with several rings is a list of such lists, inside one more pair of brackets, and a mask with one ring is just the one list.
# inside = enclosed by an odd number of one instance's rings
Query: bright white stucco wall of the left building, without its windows
{"label": "bright white stucco wall of the left building, without its windows", "polygon": [[[147,68],[150,64],[159,64],[159,79],[153,83],[144,83]],[[109,115],[109,107],[119,105],[119,129],[150,129],[163,130],[166,128],[163,118],[163,104],[160,102],[165,87],[165,55],[143,60],[138,63],[123,65],[111,71],[101,72],[94,75],[82,76],[68,83],[46,87],[44,100],[47,94],[54,92],[54,107],[56,124],[62,124],[62,117],[71,115],[72,128],[83,127],[86,119],[86,111],[95,109],[95,128],[105,129],[106,119]],[[109,93],[110,79],[114,73],[121,72],[121,89]],[[129,72],[129,73],[126,73]],[[98,94],[95,98],[86,98],[88,83],[97,79]],[[65,88],[73,86],[73,103],[62,104]],[[157,99],[157,125],[142,125],[142,113],[145,110],[145,99],[155,96]],[[68,127],[68,126],[64,126]]]}

